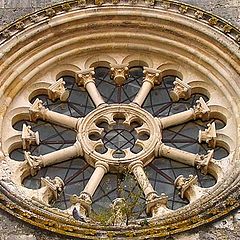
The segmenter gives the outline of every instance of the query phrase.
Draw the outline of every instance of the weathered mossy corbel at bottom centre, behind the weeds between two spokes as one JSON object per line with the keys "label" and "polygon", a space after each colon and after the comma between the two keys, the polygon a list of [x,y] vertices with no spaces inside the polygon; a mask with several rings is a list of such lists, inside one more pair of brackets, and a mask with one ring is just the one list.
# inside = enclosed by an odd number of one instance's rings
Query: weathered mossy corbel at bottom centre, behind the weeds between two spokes
{"label": "weathered mossy corbel at bottom centre, behind the weeds between two spokes", "polygon": [[109,224],[113,226],[127,225],[126,201],[124,198],[116,198],[111,204],[112,216],[109,219]]}

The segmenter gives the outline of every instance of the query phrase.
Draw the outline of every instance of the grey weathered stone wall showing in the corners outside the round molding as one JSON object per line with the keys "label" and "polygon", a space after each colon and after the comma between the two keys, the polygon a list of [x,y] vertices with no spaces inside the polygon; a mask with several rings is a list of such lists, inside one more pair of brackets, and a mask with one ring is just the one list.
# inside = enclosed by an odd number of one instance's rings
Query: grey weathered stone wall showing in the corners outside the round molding
{"label": "grey weathered stone wall showing in the corners outside the round molding", "polygon": [[[61,0],[0,0],[0,27],[27,13]],[[240,28],[240,0],[182,0],[208,10]],[[0,211],[0,240],[64,240],[56,234],[39,230]],[[240,213],[190,232],[169,236],[168,240],[240,240]]]}

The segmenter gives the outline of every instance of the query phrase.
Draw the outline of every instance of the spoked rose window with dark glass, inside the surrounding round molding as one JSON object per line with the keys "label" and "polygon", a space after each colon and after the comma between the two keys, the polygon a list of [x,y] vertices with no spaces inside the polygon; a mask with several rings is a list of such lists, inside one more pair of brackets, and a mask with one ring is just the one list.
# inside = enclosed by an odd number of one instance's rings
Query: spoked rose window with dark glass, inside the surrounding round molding
{"label": "spoked rose window with dark glass, inside the surrounding round molding", "polygon": [[[55,199],[52,196],[46,204],[54,201],[53,206],[75,210],[87,221],[91,216],[100,219],[106,211],[110,216],[111,202],[123,201],[124,219],[133,221],[186,205],[195,197],[188,192],[198,181],[202,187],[215,184],[209,164],[227,157],[228,151],[216,147],[216,129],[225,124],[210,118],[206,96],[191,94],[191,87],[178,77],[160,79],[159,71],[145,67],[95,71],[80,73],[78,81],[67,76],[59,79],[61,88],[55,94],[67,98],[56,101],[50,91],[35,96],[30,119],[15,123],[16,129],[24,128],[22,132],[31,136],[26,140],[22,136],[25,151],[10,154],[20,160],[23,173],[31,173],[26,187],[39,188],[50,176],[61,178],[63,192],[56,189]],[[112,88],[104,93],[107,84]],[[82,99],[86,101],[81,104]],[[80,104],[89,111],[83,113]]]}

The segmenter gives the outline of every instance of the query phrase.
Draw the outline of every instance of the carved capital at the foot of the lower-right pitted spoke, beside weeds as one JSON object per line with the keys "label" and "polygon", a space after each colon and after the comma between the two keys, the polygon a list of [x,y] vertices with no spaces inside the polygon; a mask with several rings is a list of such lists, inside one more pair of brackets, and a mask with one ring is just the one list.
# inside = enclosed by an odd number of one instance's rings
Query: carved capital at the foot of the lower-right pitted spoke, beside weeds
{"label": "carved capital at the foot of the lower-right pitted spoke, beside weeds", "polygon": [[147,199],[146,212],[151,214],[153,218],[160,217],[172,210],[167,207],[168,196],[162,193],[160,196],[155,194]]}

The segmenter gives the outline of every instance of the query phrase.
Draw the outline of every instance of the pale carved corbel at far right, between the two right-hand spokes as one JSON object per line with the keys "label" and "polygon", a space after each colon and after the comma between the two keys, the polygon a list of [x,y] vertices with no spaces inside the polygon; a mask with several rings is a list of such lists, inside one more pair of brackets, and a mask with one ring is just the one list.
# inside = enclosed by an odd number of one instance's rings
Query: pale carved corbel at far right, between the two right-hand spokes
{"label": "pale carved corbel at far right, between the two right-hand spokes", "polygon": [[207,126],[208,128],[204,131],[199,130],[198,141],[199,143],[206,142],[208,147],[215,148],[217,139],[215,123],[209,123]]}

